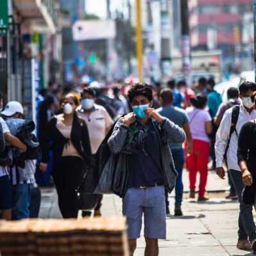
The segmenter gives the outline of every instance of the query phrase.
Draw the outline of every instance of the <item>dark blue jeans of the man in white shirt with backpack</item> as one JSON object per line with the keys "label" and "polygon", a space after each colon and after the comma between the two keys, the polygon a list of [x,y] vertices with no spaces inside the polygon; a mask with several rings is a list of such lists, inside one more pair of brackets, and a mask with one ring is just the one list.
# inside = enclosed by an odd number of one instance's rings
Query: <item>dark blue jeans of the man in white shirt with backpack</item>
{"label": "dark blue jeans of the man in white shirt with backpack", "polygon": [[238,239],[248,239],[252,242],[256,238],[256,227],[253,220],[253,205],[246,205],[242,201],[242,191],[244,188],[242,173],[236,170],[230,170],[230,175],[236,188],[240,212],[238,218]]}

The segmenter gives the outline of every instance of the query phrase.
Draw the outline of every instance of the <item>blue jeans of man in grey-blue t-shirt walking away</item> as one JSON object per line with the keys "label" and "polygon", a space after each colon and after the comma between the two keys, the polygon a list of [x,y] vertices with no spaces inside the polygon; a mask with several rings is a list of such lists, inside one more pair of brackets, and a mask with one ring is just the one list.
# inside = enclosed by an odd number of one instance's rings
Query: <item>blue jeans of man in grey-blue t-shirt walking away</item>
{"label": "blue jeans of man in grey-blue t-shirt walking away", "polygon": [[[172,152],[175,169],[178,173],[176,184],[175,184],[175,205],[179,206],[181,205],[182,196],[183,196],[182,170],[184,167],[185,156],[184,156],[183,148],[173,149],[171,150],[171,152]],[[167,190],[165,190],[165,198],[166,198],[165,200],[166,206],[169,206]]]}

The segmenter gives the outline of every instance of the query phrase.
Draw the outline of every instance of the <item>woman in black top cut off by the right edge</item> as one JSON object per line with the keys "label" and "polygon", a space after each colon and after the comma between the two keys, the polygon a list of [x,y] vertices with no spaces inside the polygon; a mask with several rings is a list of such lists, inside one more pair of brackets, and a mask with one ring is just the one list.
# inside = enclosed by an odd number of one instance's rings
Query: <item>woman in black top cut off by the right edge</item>
{"label": "woman in black top cut off by the right edge", "polygon": [[[252,101],[256,100],[256,92]],[[244,190],[243,202],[255,204],[256,193],[256,120],[246,122],[238,137],[237,161],[242,172]]]}

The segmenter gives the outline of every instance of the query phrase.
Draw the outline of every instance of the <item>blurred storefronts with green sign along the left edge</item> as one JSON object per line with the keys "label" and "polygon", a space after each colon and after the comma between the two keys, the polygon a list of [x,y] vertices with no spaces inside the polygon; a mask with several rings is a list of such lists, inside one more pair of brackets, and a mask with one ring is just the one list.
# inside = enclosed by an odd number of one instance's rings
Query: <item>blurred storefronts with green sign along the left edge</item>
{"label": "blurred storefronts with green sign along the left edge", "polygon": [[[35,99],[47,84],[55,51],[56,3],[52,0],[1,0],[0,90],[4,104],[17,100],[35,120]],[[3,10],[3,9],[1,9]],[[8,19],[4,19],[7,15]],[[3,22],[5,20],[6,22]],[[52,44],[51,44],[52,43]]]}

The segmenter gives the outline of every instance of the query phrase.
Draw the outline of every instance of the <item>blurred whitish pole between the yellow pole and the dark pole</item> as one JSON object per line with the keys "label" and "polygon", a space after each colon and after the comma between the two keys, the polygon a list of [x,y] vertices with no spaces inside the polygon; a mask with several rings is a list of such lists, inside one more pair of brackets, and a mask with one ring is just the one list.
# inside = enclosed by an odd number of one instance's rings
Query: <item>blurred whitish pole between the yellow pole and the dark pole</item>
{"label": "blurred whitish pole between the yellow pole and the dark pole", "polygon": [[172,76],[170,16],[168,0],[161,0],[161,70],[162,76],[170,79]]}

